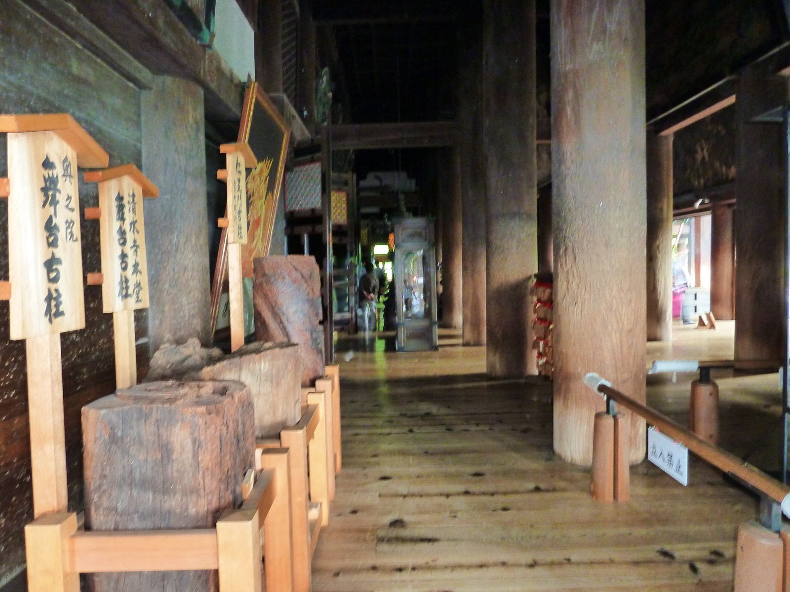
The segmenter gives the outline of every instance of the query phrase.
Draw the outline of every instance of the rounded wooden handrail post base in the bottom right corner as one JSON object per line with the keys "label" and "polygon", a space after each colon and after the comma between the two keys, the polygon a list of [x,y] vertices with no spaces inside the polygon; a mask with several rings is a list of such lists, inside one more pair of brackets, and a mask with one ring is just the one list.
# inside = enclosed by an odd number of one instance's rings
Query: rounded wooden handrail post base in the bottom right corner
{"label": "rounded wooden handrail post base in the bottom right corner", "polygon": [[779,533],[755,520],[738,527],[735,545],[735,592],[782,592],[784,544]]}

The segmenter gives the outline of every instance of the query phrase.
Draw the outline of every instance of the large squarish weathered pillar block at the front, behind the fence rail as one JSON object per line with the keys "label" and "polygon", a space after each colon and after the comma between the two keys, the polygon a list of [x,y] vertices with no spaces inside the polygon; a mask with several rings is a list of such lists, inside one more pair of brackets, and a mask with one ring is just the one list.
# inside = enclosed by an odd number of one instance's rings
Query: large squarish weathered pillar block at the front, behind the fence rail
{"label": "large squarish weathered pillar block at the front, behind the fence rail", "polygon": [[[155,382],[82,408],[85,526],[213,527],[254,466],[253,403],[231,381]],[[91,590],[217,590],[216,571],[88,576]]]}

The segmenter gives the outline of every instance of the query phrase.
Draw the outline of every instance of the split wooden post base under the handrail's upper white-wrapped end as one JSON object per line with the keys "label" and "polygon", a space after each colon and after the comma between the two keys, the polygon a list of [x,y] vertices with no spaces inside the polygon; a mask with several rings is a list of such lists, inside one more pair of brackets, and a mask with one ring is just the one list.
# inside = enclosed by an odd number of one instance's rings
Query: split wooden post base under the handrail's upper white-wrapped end
{"label": "split wooden post base under the handrail's upper white-wrapped end", "polygon": [[590,485],[595,500],[606,503],[629,500],[627,421],[623,414],[610,415],[601,411],[595,415]]}

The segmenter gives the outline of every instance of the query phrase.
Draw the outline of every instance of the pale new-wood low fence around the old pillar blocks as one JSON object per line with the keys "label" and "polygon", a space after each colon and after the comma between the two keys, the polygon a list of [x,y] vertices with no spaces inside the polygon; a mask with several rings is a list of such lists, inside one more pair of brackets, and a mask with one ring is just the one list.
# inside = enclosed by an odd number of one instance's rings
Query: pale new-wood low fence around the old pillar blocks
{"label": "pale new-wood low fence around the old pillar blocks", "polygon": [[248,472],[241,508],[225,511],[215,528],[97,532],[79,530],[75,512],[45,514],[24,528],[28,590],[79,592],[81,573],[216,569],[220,592],[259,592],[265,556],[266,590],[309,592],[339,465],[339,382],[332,371],[335,377],[317,380],[307,393],[299,423],[284,429],[279,442],[258,443],[258,478],[250,482]]}

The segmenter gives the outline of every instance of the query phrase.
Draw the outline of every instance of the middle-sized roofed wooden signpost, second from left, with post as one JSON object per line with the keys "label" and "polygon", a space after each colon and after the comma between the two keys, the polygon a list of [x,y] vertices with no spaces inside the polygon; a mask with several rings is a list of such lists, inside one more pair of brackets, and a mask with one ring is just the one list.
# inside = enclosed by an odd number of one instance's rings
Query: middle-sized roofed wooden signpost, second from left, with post
{"label": "middle-sized roofed wooden signpost, second from left, with post", "polygon": [[134,311],[149,305],[143,198],[159,189],[134,164],[85,173],[85,181],[99,183],[99,208],[85,208],[85,219],[98,219],[101,233],[102,272],[88,283],[101,284],[103,310],[112,313],[115,388],[129,388],[137,384]]}

